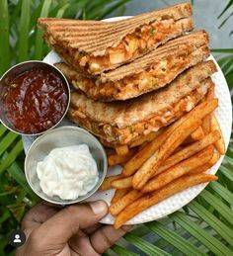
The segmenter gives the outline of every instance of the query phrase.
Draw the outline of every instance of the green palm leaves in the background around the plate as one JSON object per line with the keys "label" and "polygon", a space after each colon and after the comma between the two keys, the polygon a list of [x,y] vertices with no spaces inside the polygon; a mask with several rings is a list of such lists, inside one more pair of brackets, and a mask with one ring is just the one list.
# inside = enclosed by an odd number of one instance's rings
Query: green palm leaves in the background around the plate
{"label": "green palm leaves in the background around the plate", "polygon": [[[36,26],[39,17],[100,20],[113,13],[122,15],[129,1],[0,0],[0,75],[17,62],[41,59],[48,52]],[[231,11],[228,17],[227,10]],[[232,15],[230,0],[218,17],[221,26]],[[212,52],[233,93],[233,49]],[[23,215],[39,201],[27,184],[24,158],[21,137],[0,124],[0,255],[14,255],[7,236],[20,227]],[[179,212],[137,225],[105,255],[233,255],[232,168],[231,140],[217,182]]]}

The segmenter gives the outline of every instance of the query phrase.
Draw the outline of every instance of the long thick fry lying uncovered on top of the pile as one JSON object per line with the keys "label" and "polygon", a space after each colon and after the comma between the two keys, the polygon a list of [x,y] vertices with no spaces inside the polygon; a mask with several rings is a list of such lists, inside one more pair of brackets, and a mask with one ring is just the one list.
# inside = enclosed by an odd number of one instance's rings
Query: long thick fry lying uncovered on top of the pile
{"label": "long thick fry lying uncovered on top of the pile", "polygon": [[146,182],[158,170],[160,165],[173,153],[173,151],[181,145],[181,143],[200,126],[200,120],[195,117],[187,119],[161,145],[144,164],[137,170],[132,179],[134,189],[140,190]]}

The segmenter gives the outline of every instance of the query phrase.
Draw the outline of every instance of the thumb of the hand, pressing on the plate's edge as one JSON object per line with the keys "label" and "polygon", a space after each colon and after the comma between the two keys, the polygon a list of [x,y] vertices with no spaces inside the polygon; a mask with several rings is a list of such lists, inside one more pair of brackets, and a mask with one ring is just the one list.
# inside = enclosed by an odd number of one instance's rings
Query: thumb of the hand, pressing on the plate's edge
{"label": "thumb of the hand, pressing on the plate's edge", "polygon": [[104,201],[66,207],[39,226],[38,240],[45,237],[45,242],[49,244],[65,243],[79,228],[97,223],[107,213],[108,206]]}

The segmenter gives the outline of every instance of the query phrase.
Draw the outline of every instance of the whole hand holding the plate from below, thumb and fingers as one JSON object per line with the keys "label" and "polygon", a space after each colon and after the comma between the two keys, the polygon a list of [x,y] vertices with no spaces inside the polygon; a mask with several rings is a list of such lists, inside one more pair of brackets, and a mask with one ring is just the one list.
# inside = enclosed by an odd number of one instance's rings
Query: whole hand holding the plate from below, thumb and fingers
{"label": "whole hand holding the plate from below, thumb and fingers", "polygon": [[110,248],[130,226],[115,229],[98,221],[108,213],[103,201],[66,207],[62,210],[43,203],[23,219],[27,242],[17,256],[97,256]]}

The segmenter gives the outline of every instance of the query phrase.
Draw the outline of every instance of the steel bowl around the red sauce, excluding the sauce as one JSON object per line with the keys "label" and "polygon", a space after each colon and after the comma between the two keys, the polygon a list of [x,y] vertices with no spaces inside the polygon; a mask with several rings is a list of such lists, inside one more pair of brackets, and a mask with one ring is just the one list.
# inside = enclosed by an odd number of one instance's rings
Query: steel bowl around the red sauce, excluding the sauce
{"label": "steel bowl around the red sauce, excluding the sauce", "polygon": [[[46,67],[48,69],[50,69],[52,72],[55,72],[64,82],[64,85],[66,85],[66,92],[67,92],[67,96],[68,96],[68,101],[67,101],[67,106],[65,109],[64,114],[62,115],[62,117],[60,118],[60,120],[51,128],[47,128],[45,130],[39,131],[37,133],[25,133],[21,130],[18,130],[17,128],[15,128],[6,118],[5,115],[5,106],[4,106],[4,95],[8,89],[8,81],[10,79],[12,79],[12,77],[16,77],[18,75],[20,75],[21,73],[30,70],[34,67]],[[66,80],[65,76],[61,73],[61,71],[56,68],[53,65],[50,65],[48,63],[45,63],[43,61],[39,61],[39,60],[30,60],[30,61],[25,61],[25,62],[21,62],[13,67],[11,67],[9,70],[7,70],[3,76],[0,79],[0,122],[6,127],[9,128],[10,130],[21,134],[21,135],[39,135],[42,134],[43,132],[55,128],[60,122],[61,120],[65,117],[68,108],[69,108],[69,103],[70,103],[70,88],[69,88],[69,83]]]}

